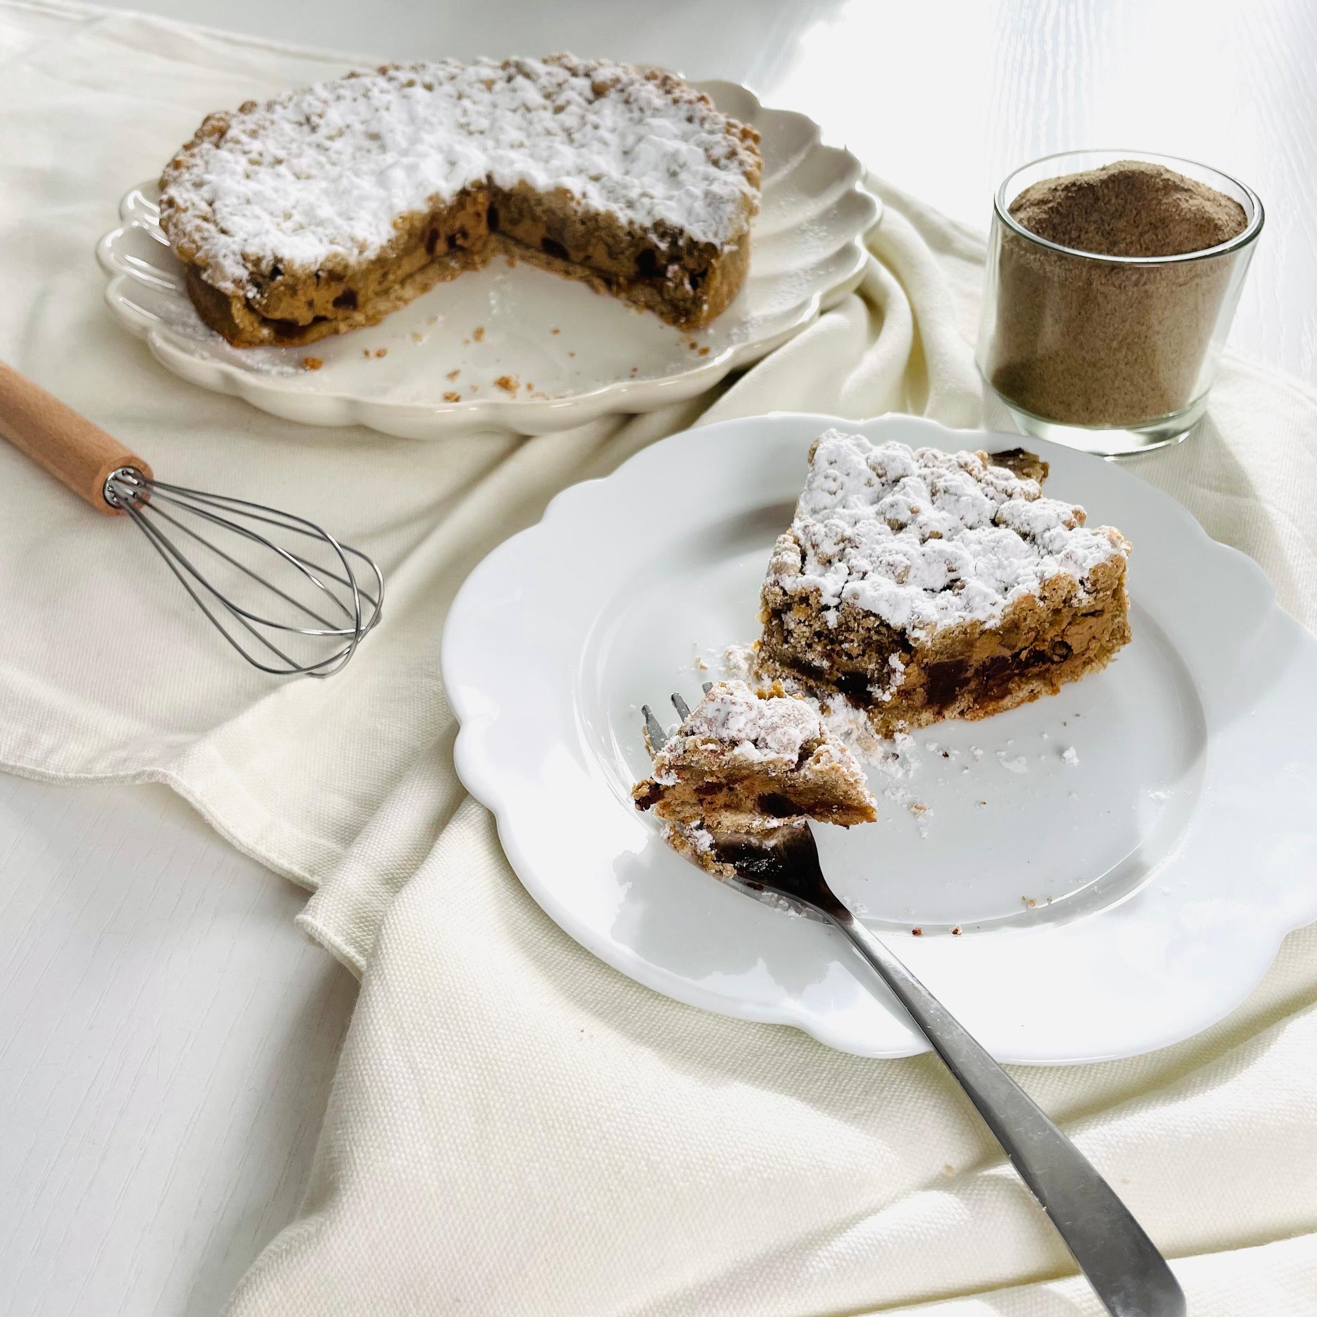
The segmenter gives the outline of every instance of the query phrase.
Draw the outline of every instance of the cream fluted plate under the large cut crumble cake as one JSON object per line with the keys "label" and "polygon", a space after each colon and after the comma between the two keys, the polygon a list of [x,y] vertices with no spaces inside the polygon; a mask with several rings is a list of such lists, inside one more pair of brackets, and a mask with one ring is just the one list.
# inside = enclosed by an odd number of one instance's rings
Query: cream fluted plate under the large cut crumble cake
{"label": "cream fluted plate under the large cut crumble cake", "polygon": [[[96,249],[105,300],[176,375],[311,425],[406,439],[491,427],[543,435],[693,398],[851,292],[880,211],[860,162],[824,146],[811,119],[766,109],[735,83],[695,86],[759,128],[764,155],[749,275],[703,329],[674,329],[582,283],[495,259],[367,329],[306,348],[232,348],[187,298],[154,183],[124,198],[122,224]],[[308,358],[321,366],[307,369]]]}

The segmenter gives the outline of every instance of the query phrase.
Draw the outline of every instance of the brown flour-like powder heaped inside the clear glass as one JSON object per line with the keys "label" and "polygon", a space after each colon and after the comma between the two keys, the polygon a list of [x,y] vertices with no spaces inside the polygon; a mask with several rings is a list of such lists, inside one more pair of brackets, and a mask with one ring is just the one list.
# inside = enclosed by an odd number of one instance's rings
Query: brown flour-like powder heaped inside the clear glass
{"label": "brown flour-like powder heaped inside the clear glass", "polygon": [[[1118,161],[1044,179],[1011,217],[1059,246],[1166,257],[1229,242],[1238,202],[1160,165]],[[1071,255],[1002,230],[993,387],[1023,411],[1076,425],[1133,425],[1187,407],[1235,254],[1169,265]]]}

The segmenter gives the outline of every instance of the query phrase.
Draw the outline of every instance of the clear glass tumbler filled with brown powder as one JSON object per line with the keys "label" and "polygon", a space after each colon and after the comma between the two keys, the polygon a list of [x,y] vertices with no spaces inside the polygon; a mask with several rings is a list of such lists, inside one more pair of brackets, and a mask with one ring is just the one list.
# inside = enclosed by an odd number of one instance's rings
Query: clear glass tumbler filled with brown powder
{"label": "clear glass tumbler filled with brown powder", "polygon": [[[1026,187],[1118,161],[1162,165],[1234,199],[1242,232],[1183,255],[1104,255],[1011,217]],[[1010,174],[993,205],[979,369],[1021,432],[1106,457],[1184,439],[1206,408],[1262,223],[1243,183],[1169,155],[1064,151]]]}

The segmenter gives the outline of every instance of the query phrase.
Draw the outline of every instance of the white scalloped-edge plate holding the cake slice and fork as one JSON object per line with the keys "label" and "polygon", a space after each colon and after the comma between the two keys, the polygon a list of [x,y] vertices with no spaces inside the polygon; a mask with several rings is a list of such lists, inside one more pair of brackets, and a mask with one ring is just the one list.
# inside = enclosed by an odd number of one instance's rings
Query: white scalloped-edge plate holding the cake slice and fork
{"label": "white scalloped-edge plate holding the cake slice and fork", "polygon": [[[572,936],[680,1001],[901,1056],[922,1040],[836,934],[694,868],[628,797],[648,772],[641,702],[694,699],[716,676],[697,656],[757,635],[769,549],[831,424],[1018,443],[909,416],[673,436],[562,493],[471,573],[444,680],[458,773]],[[815,835],[843,900],[996,1056],[1100,1060],[1220,1019],[1317,919],[1317,643],[1166,494],[1035,446],[1050,490],[1133,541],[1134,640],[1054,698],[925,728],[902,752],[909,777],[871,772],[877,823]]]}

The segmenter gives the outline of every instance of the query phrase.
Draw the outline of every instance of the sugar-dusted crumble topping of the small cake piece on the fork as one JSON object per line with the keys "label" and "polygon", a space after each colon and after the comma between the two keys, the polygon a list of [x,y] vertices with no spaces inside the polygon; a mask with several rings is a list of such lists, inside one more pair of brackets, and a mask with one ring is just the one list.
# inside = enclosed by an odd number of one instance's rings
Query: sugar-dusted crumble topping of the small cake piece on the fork
{"label": "sugar-dusted crumble topping of the small cake piece on the fork", "polygon": [[[803,699],[761,697],[743,681],[719,681],[655,756],[655,781],[669,781],[674,764],[699,751],[764,768],[795,768],[801,751],[824,739],[823,720]],[[835,751],[844,753],[840,745]]]}

